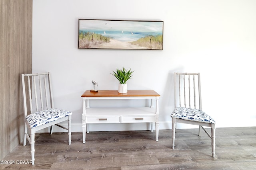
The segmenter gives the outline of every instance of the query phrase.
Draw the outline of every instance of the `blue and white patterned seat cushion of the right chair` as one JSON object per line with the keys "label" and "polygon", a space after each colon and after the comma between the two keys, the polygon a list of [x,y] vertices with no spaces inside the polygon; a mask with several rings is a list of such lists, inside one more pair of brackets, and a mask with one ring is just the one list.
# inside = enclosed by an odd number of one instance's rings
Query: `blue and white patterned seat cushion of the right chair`
{"label": "blue and white patterned seat cushion of the right chair", "polygon": [[204,113],[204,111],[186,107],[176,107],[174,111],[172,111],[171,117],[190,121],[215,123],[214,119]]}

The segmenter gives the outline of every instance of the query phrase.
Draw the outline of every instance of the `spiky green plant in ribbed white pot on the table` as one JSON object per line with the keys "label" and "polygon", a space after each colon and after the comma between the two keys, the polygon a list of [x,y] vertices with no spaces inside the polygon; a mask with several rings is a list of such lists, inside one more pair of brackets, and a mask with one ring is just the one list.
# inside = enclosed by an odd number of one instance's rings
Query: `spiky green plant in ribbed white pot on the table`
{"label": "spiky green plant in ribbed white pot on the table", "polygon": [[119,86],[118,86],[118,93],[127,93],[127,84],[126,81],[129,80],[130,78],[132,78],[132,73],[134,71],[130,70],[126,70],[124,67],[122,69],[118,69],[116,68],[116,72],[114,72],[112,70],[113,76],[115,76],[117,78],[117,80],[119,81]]}

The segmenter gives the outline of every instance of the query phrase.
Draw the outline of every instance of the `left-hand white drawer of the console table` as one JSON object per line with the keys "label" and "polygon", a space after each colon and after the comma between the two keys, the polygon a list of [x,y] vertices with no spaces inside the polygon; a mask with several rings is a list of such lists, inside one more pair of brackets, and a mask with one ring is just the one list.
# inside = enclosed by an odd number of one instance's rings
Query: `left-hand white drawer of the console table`
{"label": "left-hand white drawer of the console table", "polygon": [[120,116],[86,116],[86,123],[121,123]]}

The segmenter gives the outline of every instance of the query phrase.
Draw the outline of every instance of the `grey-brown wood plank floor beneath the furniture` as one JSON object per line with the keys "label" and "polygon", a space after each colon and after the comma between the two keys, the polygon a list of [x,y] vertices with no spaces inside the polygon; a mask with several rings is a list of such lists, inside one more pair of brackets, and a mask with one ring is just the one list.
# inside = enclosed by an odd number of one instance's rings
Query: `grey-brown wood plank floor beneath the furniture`
{"label": "grey-brown wood plank floor beneath the furniture", "polygon": [[[90,132],[86,144],[82,133],[37,133],[35,165],[16,164],[30,160],[30,145],[20,144],[3,160],[0,169],[32,170],[250,170],[256,169],[256,127],[216,128],[216,157],[211,157],[211,140],[198,129],[177,129],[175,149],[171,130],[155,132]],[[2,161],[1,161],[2,162]],[[18,162],[19,163],[19,162]]]}

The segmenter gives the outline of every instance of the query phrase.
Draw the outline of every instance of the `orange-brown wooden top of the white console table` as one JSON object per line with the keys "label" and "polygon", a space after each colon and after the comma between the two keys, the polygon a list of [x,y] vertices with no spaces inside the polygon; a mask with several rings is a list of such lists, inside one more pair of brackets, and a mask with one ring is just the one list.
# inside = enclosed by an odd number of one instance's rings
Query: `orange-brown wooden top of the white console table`
{"label": "orange-brown wooden top of the white console table", "polygon": [[128,90],[127,93],[118,93],[118,90],[98,90],[90,92],[86,90],[81,97],[136,97],[136,96],[160,96],[154,90]]}

